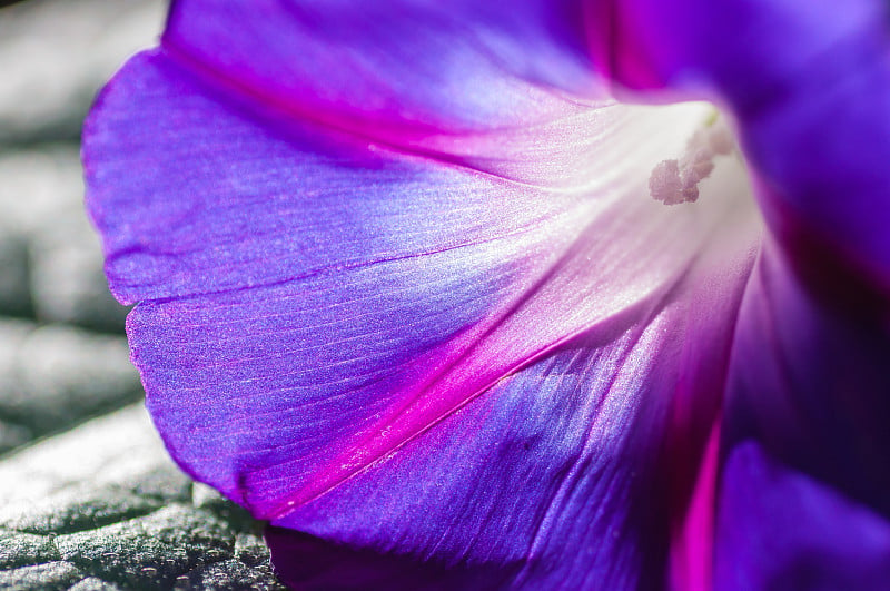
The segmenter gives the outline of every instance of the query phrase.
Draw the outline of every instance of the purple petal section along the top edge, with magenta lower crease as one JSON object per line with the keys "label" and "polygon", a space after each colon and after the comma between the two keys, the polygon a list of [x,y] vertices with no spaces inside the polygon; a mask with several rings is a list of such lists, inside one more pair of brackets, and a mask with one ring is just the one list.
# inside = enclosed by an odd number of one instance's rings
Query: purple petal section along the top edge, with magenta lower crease
{"label": "purple petal section along the top edge, with magenta lower crease", "polygon": [[601,157],[589,131],[602,101],[577,98],[597,90],[580,12],[574,0],[180,0],[162,47],[298,119],[564,185],[585,180]]}

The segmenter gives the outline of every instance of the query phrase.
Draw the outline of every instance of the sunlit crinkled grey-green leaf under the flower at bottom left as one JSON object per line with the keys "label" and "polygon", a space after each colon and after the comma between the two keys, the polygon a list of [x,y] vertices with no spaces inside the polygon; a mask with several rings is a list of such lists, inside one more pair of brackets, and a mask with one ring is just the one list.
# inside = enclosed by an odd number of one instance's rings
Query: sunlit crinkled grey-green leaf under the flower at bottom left
{"label": "sunlit crinkled grey-green leaf under the flower at bottom left", "polygon": [[257,522],[169,461],[140,404],[0,464],[0,587],[279,587]]}

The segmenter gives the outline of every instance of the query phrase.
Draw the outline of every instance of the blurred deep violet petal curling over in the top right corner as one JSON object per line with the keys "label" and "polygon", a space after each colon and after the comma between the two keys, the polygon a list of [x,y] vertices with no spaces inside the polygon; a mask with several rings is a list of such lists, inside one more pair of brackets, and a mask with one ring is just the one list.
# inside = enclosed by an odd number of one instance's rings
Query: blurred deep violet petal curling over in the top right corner
{"label": "blurred deep violet petal curling over in the top right corner", "polygon": [[830,252],[886,306],[887,2],[853,0],[843,10],[797,0],[594,6],[602,7],[591,21],[599,67],[619,86],[725,105],[763,181],[765,217],[798,270],[824,276],[808,250]]}

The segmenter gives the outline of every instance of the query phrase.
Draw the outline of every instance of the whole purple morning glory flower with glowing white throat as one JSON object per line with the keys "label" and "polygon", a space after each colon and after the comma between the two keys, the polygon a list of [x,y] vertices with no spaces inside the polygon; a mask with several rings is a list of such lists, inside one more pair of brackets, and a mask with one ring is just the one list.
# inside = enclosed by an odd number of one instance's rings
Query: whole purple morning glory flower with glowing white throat
{"label": "whole purple morning glory flower with glowing white throat", "polygon": [[171,455],[297,588],[884,584],[888,23],[174,2],[83,148]]}

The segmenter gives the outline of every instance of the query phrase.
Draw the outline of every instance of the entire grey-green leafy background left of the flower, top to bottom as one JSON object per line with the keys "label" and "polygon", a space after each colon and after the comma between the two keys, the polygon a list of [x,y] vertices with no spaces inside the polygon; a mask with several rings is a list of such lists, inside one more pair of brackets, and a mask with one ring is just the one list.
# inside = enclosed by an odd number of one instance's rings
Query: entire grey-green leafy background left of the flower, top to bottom
{"label": "entire grey-green leafy background left of the flower, top to bottom", "polygon": [[83,213],[80,128],[160,0],[0,2],[0,589],[277,589],[164,452]]}

